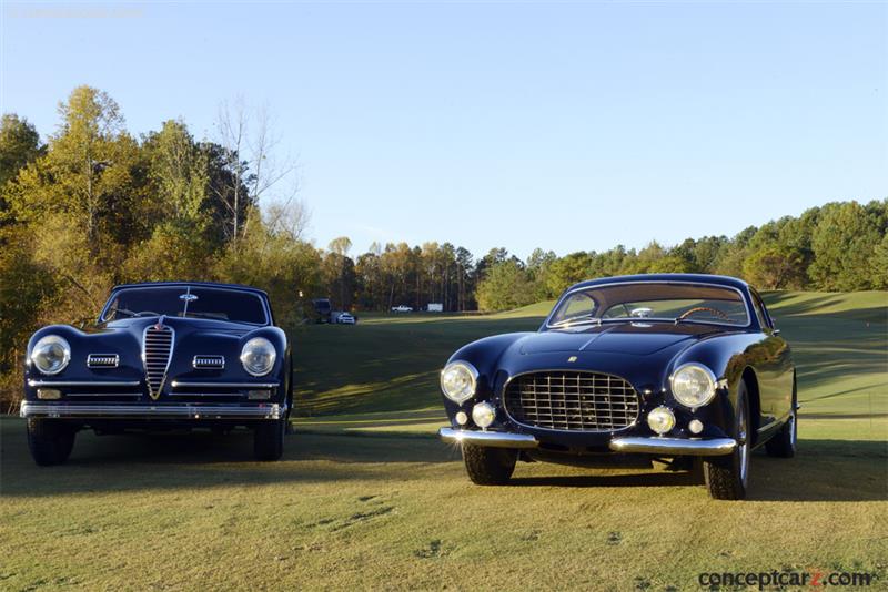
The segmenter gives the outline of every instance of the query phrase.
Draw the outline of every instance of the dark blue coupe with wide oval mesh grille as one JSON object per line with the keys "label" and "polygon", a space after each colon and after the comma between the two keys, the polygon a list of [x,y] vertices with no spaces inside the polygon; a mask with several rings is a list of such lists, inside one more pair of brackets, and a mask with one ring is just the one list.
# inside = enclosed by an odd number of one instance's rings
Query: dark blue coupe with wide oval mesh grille
{"label": "dark blue coupe with wide oval mesh grille", "polygon": [[796,448],[789,346],[745,282],[695,274],[610,277],[568,288],[536,333],[487,337],[441,374],[473,482],[518,459],[703,462],[709,493],[746,496],[749,455]]}

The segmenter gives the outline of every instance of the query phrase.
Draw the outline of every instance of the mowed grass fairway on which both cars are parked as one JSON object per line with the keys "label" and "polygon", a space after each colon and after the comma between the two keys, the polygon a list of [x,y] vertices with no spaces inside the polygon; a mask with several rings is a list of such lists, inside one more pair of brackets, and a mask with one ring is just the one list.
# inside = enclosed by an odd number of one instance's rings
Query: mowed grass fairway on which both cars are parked
{"label": "mowed grass fairway on which both cars are parked", "polygon": [[799,370],[800,451],[757,453],[750,499],[687,473],[518,466],[472,486],[436,441],[454,348],[533,329],[546,305],[312,326],[296,435],[81,433],[39,469],[2,427],[0,589],[694,590],[724,571],[866,571],[888,586],[888,295],[771,294]]}

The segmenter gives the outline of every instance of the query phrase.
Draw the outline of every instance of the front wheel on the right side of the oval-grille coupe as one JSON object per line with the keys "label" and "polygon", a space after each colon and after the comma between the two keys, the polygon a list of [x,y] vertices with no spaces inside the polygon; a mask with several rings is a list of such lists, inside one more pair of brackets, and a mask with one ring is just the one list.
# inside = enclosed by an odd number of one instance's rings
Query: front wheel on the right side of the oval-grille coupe
{"label": "front wheel on the right side of the oval-grille coupe", "polygon": [[749,398],[746,382],[740,381],[734,438],[737,447],[730,455],[707,459],[703,466],[706,488],[717,500],[741,500],[749,478]]}

